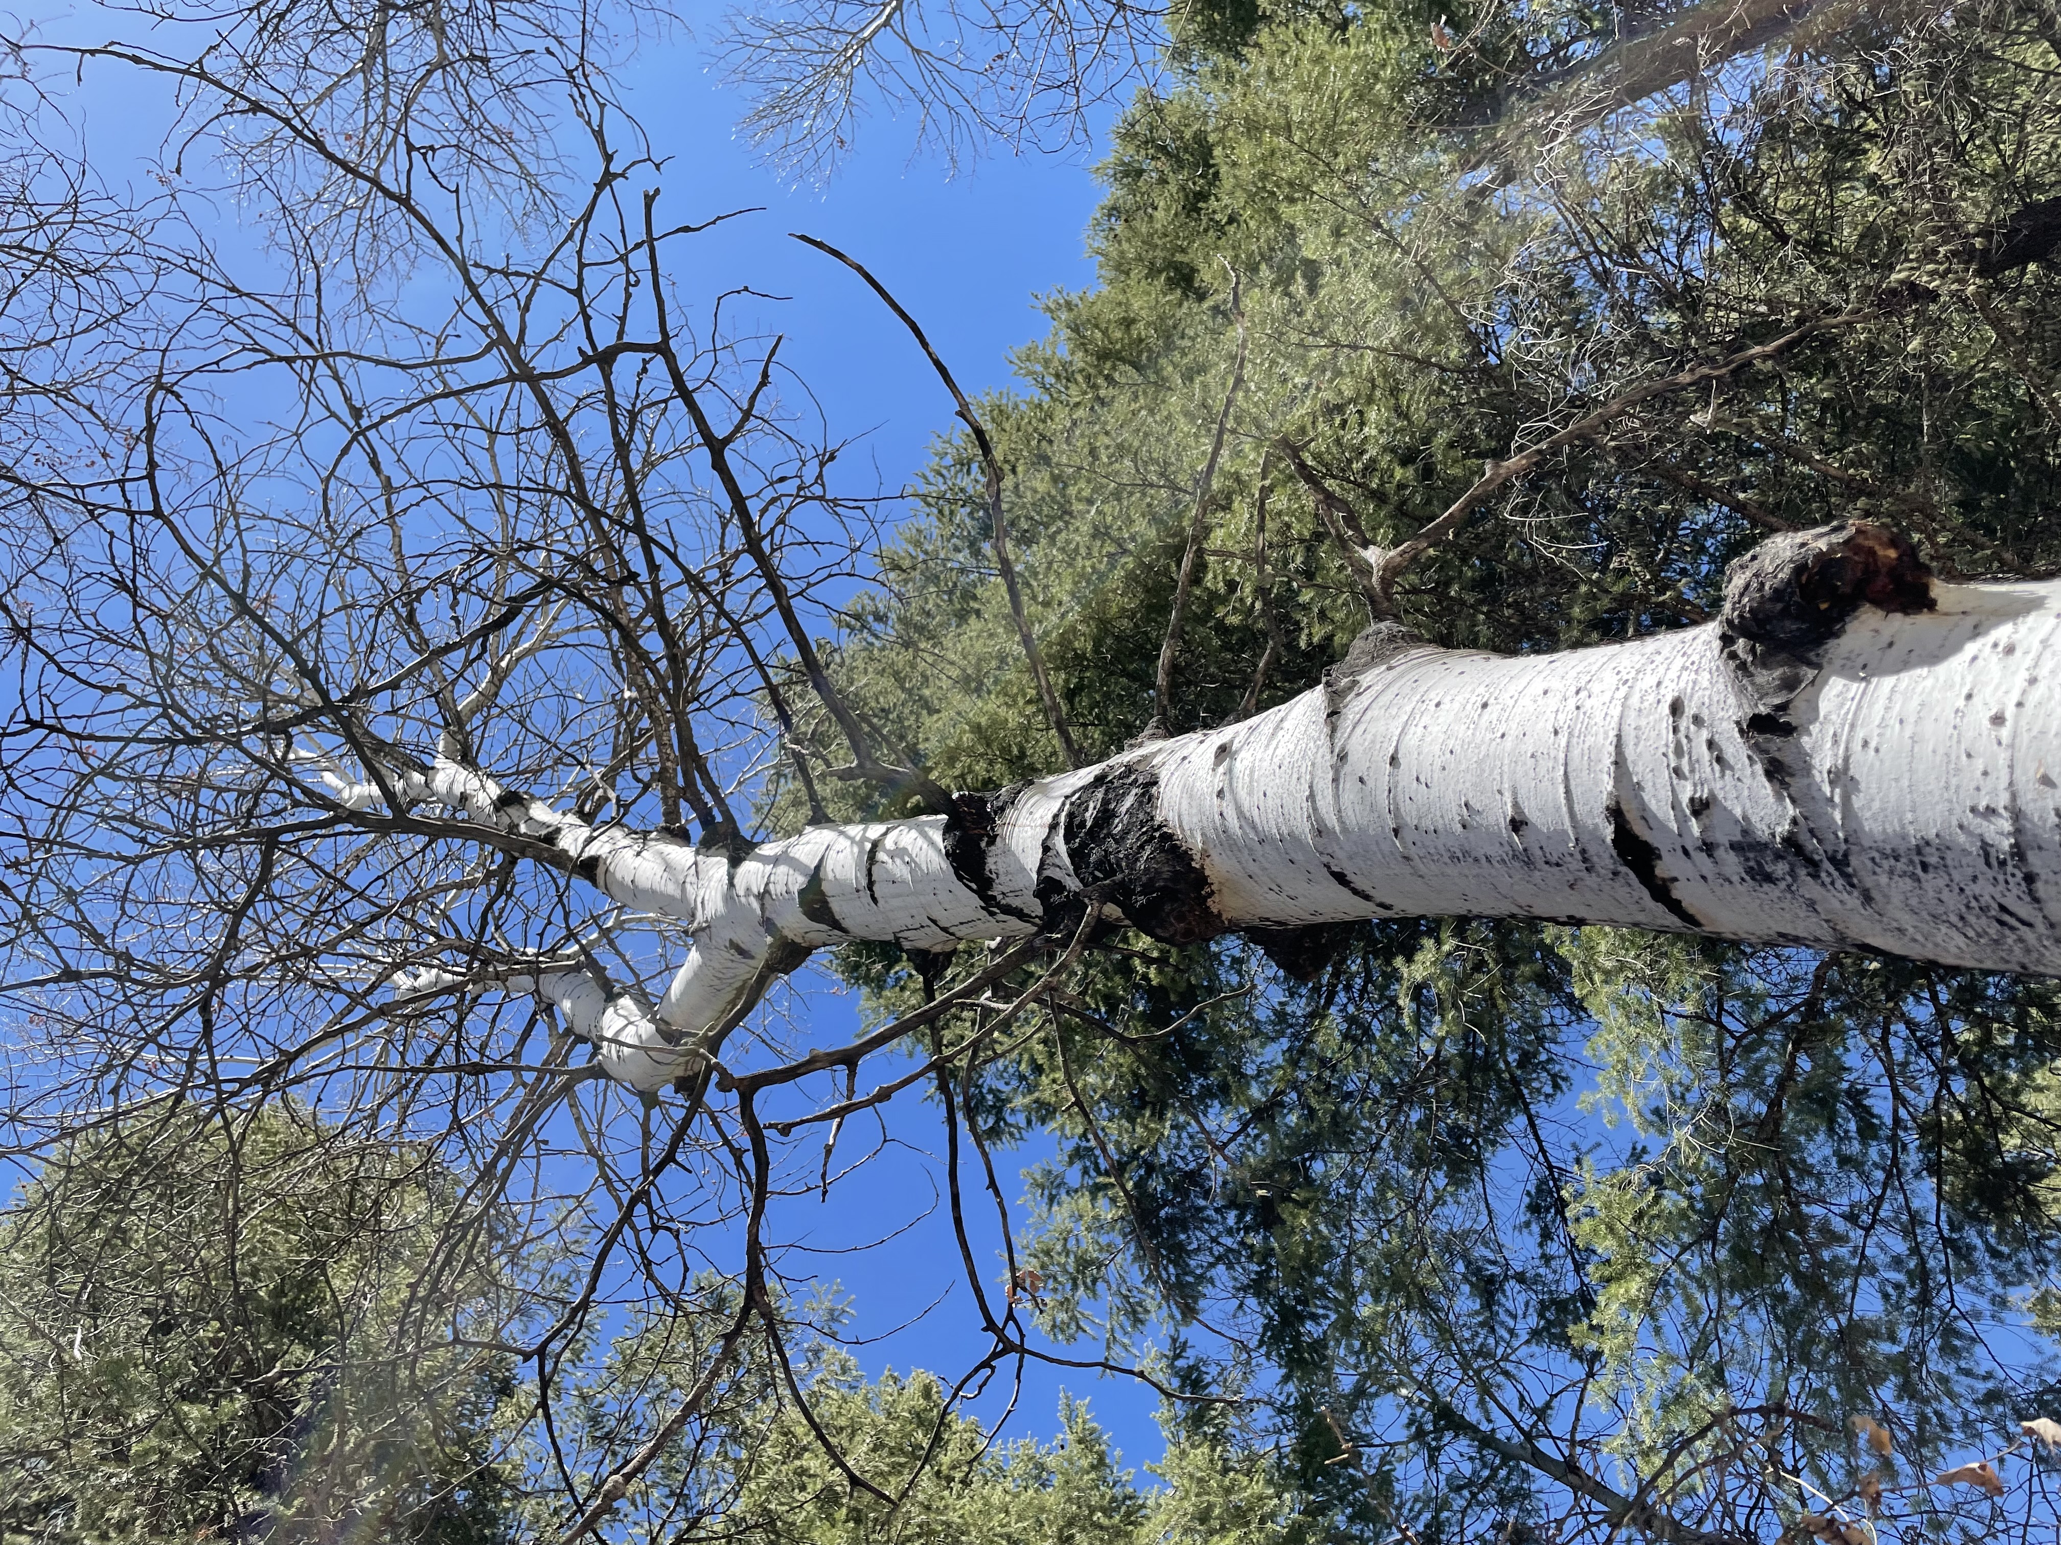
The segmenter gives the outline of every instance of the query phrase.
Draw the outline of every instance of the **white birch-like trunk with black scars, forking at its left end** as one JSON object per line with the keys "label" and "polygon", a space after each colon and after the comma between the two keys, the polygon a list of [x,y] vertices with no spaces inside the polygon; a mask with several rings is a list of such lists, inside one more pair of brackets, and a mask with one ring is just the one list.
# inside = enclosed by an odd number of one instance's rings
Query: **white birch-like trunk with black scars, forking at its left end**
{"label": "white birch-like trunk with black scars, forking at its left end", "polygon": [[740,859],[447,760],[406,785],[695,929],[649,1011],[534,983],[641,1090],[808,950],[1026,935],[1086,900],[1171,941],[1476,915],[2061,974],[2061,583],[1933,585],[1867,525],[1777,538],[1715,624],[1523,657],[1373,628],[1243,723]]}

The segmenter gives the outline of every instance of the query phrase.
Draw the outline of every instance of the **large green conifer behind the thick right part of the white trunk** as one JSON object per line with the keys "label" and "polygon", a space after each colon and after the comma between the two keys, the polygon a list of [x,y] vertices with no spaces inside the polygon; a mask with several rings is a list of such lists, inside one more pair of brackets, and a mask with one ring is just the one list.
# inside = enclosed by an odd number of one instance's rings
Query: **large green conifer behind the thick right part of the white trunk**
{"label": "large green conifer behind the thick right part of the white trunk", "polygon": [[[1282,441],[1395,546],[1484,464],[1810,325],[1505,486],[1404,618],[1496,651],[1684,626],[1768,529],[1849,515],[1948,577],[2055,573],[2061,272],[2028,233],[2061,210],[2061,14],[1826,12],[1583,111],[1599,39],[1682,14],[1284,4],[1183,35],[1101,167],[1101,282],[1049,297],[983,404],[1086,756],[1300,692],[1364,624]],[[946,439],[843,655],[950,787],[1057,770],[987,542]],[[1057,1135],[1045,1325],[1257,1397],[1313,1526],[1775,1539],[1824,1498],[1857,1518],[1863,1479],[1867,1512],[1888,1485],[1886,1518],[1985,1526],[1987,1491],[1898,1485],[2053,1403],[2053,983],[1465,919],[1119,943],[967,1104]],[[847,964],[913,991],[890,952]],[[1851,1411],[1898,1434],[1880,1475]]]}

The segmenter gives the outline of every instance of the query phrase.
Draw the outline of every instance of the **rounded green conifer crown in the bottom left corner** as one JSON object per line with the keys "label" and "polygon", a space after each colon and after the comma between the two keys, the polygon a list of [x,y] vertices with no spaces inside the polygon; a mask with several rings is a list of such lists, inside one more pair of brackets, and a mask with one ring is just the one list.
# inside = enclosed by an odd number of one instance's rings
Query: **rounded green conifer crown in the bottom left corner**
{"label": "rounded green conifer crown in the bottom left corner", "polygon": [[509,1539],[513,1370],[449,1337],[488,1283],[416,1296],[449,1209],[291,1108],[56,1156],[0,1234],[0,1539]]}

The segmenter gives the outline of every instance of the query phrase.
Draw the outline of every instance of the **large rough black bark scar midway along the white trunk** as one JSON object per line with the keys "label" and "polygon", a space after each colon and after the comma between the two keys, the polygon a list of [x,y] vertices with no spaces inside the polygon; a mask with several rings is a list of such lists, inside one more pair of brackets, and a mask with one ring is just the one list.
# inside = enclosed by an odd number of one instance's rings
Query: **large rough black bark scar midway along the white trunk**
{"label": "large rough black bark scar midway along the white trunk", "polygon": [[1082,888],[1160,943],[1224,931],[1210,878],[1158,818],[1158,772],[1119,762],[1066,803],[1066,857]]}

